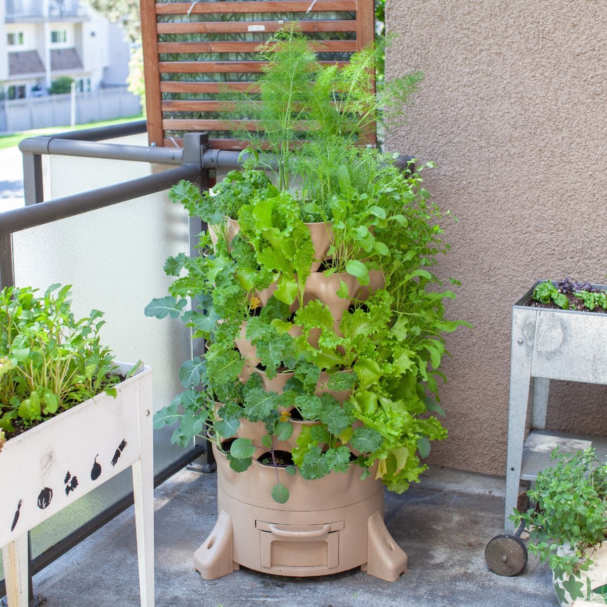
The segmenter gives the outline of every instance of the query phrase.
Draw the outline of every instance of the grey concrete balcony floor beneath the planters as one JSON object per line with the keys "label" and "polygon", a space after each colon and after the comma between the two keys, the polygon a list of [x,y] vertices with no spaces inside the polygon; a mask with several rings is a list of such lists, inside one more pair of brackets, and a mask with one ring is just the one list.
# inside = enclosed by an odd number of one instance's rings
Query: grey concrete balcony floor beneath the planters
{"label": "grey concrete balcony floor beneath the planters", "polygon": [[[503,526],[503,481],[432,469],[403,495],[386,494],[386,524],[409,571],[383,582],[358,569],[289,578],[240,569],[203,580],[192,565],[217,518],[215,475],[181,470],[155,491],[158,607],[554,607],[551,572],[529,557],[515,577],[489,571],[484,549]],[[465,491],[465,492],[464,492]],[[34,578],[46,607],[138,607],[132,507]]]}

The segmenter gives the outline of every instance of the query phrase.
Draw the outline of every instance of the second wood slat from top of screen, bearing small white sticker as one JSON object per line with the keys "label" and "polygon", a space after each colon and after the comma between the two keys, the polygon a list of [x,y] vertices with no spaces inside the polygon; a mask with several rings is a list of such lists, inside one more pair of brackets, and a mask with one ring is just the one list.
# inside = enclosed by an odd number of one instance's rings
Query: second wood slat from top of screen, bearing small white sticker
{"label": "second wood slat from top of screen, bearing small white sticker", "polygon": [[[356,32],[356,21],[299,21],[296,22],[301,32]],[[206,34],[206,33],[248,33],[277,32],[288,27],[290,22],[279,21],[200,21],[187,23],[158,23],[159,34]],[[251,29],[263,27],[262,29]]]}

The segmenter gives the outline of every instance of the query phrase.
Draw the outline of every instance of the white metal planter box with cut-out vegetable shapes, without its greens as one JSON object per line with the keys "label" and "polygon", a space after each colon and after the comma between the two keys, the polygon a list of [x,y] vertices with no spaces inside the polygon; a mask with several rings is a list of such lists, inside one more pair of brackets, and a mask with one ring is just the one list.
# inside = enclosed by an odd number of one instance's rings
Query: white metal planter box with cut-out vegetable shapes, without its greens
{"label": "white metal planter box with cut-out vegetable shapes, without its greens", "polygon": [[[120,365],[126,373],[130,365]],[[152,370],[10,439],[0,452],[8,607],[27,606],[27,532],[132,466],[141,605],[154,605]]]}

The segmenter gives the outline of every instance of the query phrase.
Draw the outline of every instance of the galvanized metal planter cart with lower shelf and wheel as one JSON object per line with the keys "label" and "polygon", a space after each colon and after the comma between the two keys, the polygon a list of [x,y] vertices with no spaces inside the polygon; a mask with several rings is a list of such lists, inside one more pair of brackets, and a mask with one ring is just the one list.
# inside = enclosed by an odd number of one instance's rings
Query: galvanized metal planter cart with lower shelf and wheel
{"label": "galvanized metal planter cart with lower shelf and wheel", "polygon": [[487,565],[500,575],[520,573],[527,562],[518,537],[522,529],[514,534],[509,520],[520,481],[534,481],[541,469],[550,466],[550,454],[557,446],[575,453],[592,445],[603,461],[607,456],[607,438],[546,430],[551,379],[607,384],[607,314],[527,307],[538,284],[512,306],[504,534],[494,537],[485,551]]}

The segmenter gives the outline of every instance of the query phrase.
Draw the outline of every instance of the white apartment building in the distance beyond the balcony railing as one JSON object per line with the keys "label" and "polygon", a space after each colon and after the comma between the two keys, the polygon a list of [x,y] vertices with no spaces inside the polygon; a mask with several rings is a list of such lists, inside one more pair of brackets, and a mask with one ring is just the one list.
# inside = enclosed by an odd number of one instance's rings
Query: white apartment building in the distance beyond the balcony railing
{"label": "white apartment building in the distance beyond the balcony railing", "polygon": [[59,76],[80,91],[126,81],[129,45],[120,27],[79,0],[0,0],[0,24],[4,98],[46,95]]}

